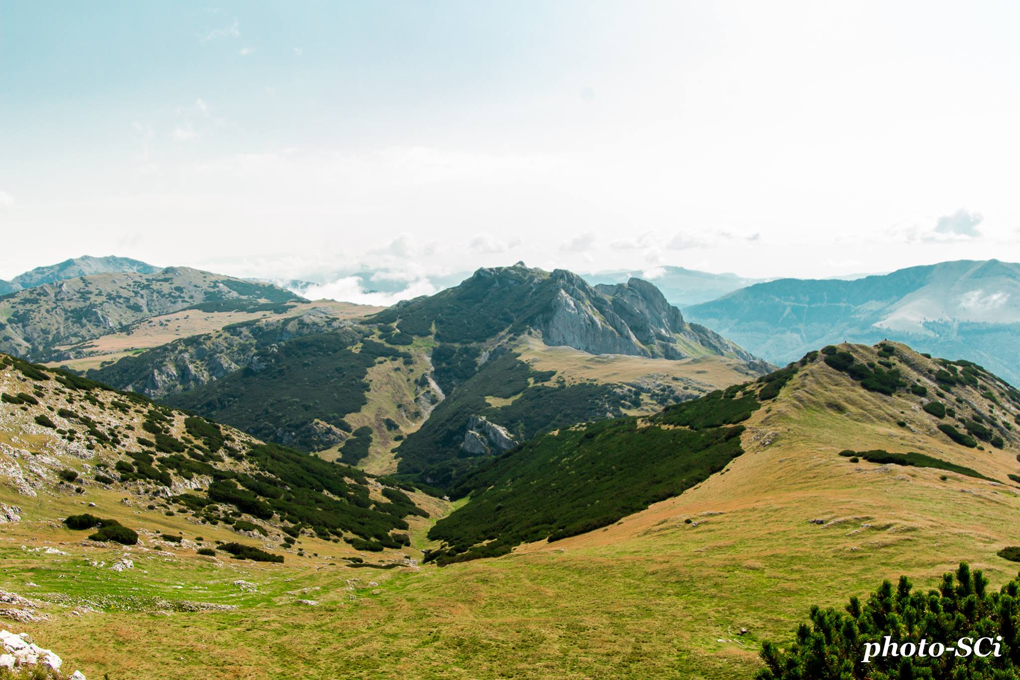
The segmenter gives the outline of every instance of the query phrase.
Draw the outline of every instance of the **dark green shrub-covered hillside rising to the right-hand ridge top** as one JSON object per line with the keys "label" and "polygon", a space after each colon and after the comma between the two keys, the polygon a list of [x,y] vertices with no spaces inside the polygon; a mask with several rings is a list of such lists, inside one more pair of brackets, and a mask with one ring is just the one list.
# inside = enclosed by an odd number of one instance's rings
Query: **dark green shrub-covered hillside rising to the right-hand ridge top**
{"label": "dark green shrub-covered hillside rising to the right-hand ridge top", "polygon": [[[452,485],[450,496],[469,503],[429,531],[443,543],[429,559],[442,565],[495,557],[522,542],[600,529],[679,495],[712,474],[724,474],[745,453],[741,423],[763,407],[779,407],[783,387],[801,372],[839,373],[855,389],[912,404],[948,450],[999,452],[1020,438],[1013,431],[1020,424],[1020,391],[980,366],[929,360],[889,343],[853,350],[828,346],[755,382],[668,406],[650,417],[586,423],[526,441]],[[906,419],[897,425],[911,427]],[[851,448],[856,443],[848,440],[840,455],[854,462],[1004,481],[944,454],[857,452]]]}

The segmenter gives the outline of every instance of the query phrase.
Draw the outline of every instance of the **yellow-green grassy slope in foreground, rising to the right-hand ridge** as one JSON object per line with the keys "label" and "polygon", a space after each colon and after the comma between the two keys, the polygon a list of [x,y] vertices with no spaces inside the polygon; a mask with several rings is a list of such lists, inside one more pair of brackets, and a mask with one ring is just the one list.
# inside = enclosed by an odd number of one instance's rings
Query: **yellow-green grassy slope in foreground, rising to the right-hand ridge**
{"label": "yellow-green grassy slope in foreground, rising to the right-hand ridge", "polygon": [[[957,391],[986,410],[976,393]],[[836,402],[847,415],[826,406]],[[242,608],[168,617],[58,613],[23,628],[89,677],[162,677],[168,666],[181,678],[748,677],[760,640],[789,639],[811,604],[839,606],[901,573],[926,587],[962,559],[996,586],[1016,572],[994,555],[1016,542],[1014,487],[952,473],[941,481],[939,470],[853,464],[837,455],[918,451],[1000,479],[1020,467],[1015,442],[984,452],[952,444],[919,404],[902,393],[866,393],[814,364],[771,410],[745,423],[747,453],[729,472],[605,530],[497,560],[368,576],[291,560],[265,571],[228,561],[216,572],[197,560],[153,560],[144,567],[149,574],[136,568],[122,581],[89,581],[89,588],[195,583],[210,592],[194,598]],[[916,431],[897,426],[901,418]],[[67,540],[33,524],[31,512],[17,531]],[[832,523],[808,523],[815,518]],[[40,590],[82,587],[57,578],[80,569],[88,576],[72,560],[76,552],[23,553],[17,545],[31,536],[10,528],[2,536],[11,540],[0,543],[8,569],[0,587],[23,592],[29,580]],[[227,584],[240,569],[266,593],[231,597]],[[352,573],[379,586],[345,590]],[[314,595],[277,594],[315,586]],[[321,605],[301,608],[291,604],[296,596]],[[750,632],[738,637],[742,626]]]}

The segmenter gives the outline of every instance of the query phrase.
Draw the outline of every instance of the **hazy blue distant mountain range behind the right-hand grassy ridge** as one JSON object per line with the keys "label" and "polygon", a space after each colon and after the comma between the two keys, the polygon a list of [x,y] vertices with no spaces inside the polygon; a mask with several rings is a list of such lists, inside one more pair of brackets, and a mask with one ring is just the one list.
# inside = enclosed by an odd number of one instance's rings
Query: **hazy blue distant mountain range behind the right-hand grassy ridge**
{"label": "hazy blue distant mountain range behind the right-hand grassy ridge", "polygon": [[683,312],[774,363],[828,343],[888,337],[1020,383],[1018,264],[960,260],[849,281],[781,278]]}

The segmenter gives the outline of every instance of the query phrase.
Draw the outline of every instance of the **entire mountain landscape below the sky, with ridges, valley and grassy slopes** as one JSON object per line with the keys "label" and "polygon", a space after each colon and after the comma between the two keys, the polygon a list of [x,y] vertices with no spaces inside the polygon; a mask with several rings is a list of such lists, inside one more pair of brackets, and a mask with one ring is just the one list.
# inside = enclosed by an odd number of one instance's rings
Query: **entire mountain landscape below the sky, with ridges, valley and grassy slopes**
{"label": "entire mountain landscape below the sky, with ridges, valley and grassy slopes", "polygon": [[[29,272],[0,298],[0,617],[50,677],[843,677],[871,633],[837,653],[833,622],[1013,607],[1006,344],[928,352],[938,314],[1008,332],[974,310],[1013,267],[727,275],[683,312],[523,263],[389,308]],[[798,304],[824,319],[774,337]]]}

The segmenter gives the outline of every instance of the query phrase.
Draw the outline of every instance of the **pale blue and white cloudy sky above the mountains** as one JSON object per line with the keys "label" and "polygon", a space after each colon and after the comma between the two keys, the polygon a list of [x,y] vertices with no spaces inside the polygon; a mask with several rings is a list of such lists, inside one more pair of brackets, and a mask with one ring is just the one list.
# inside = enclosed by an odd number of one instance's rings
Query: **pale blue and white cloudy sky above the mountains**
{"label": "pale blue and white cloudy sky above the mountains", "polygon": [[[0,278],[79,255],[429,293],[478,266],[1020,260],[1016,3],[0,0]],[[400,297],[400,296],[398,296]],[[360,300],[360,298],[358,298]]]}

